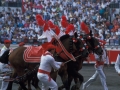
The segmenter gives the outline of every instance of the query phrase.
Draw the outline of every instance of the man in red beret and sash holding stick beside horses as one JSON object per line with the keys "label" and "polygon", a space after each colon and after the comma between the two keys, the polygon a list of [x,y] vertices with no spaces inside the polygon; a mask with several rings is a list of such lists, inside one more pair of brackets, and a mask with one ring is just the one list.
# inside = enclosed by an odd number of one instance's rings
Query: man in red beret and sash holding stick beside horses
{"label": "man in red beret and sash holding stick beside horses", "polygon": [[41,56],[37,77],[42,82],[42,90],[48,90],[49,88],[51,90],[58,90],[57,83],[50,77],[50,72],[52,68],[58,70],[64,63],[55,61],[53,57],[55,50],[56,47],[50,44]]}

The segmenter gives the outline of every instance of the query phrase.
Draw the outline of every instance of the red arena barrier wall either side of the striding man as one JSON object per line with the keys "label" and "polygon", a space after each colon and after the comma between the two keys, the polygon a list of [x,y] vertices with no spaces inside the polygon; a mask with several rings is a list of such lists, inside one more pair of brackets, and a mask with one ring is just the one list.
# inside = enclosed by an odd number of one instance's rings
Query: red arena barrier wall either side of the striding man
{"label": "red arena barrier wall either side of the striding man", "polygon": [[[116,61],[119,53],[120,53],[120,50],[108,50],[108,57],[109,57],[109,60],[110,60],[110,64],[115,64],[115,61]],[[84,63],[94,64],[95,63],[94,55],[90,54],[89,56],[90,56],[90,60],[89,61],[84,61]]]}

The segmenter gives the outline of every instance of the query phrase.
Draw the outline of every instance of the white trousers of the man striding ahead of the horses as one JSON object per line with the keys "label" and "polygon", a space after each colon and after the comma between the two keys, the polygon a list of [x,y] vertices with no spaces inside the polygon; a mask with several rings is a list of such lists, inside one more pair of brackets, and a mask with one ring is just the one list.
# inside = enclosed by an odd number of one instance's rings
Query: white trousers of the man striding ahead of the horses
{"label": "white trousers of the man striding ahead of the horses", "polygon": [[95,67],[95,69],[96,69],[95,74],[94,74],[91,78],[89,78],[88,81],[86,81],[86,82],[84,83],[84,87],[88,87],[88,86],[89,86],[92,82],[94,82],[94,81],[97,79],[97,77],[99,76],[99,78],[100,78],[100,80],[101,80],[101,84],[102,84],[104,90],[108,90],[108,87],[107,87],[107,84],[106,84],[106,76],[105,76],[105,74],[104,74],[104,72],[103,72],[103,65],[100,65],[100,66],[98,66],[97,68]]}

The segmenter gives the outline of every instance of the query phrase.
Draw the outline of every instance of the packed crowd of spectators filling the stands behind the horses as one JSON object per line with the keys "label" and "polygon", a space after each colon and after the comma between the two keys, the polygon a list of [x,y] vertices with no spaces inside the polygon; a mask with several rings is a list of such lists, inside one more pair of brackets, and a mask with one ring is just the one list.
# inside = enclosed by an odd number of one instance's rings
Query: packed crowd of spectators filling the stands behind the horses
{"label": "packed crowd of spectators filling the stands behind the horses", "polygon": [[[81,31],[80,23],[84,21],[94,35],[106,40],[107,45],[120,45],[120,14],[112,9],[110,15],[109,5],[112,2],[119,0],[23,0],[23,11],[8,8],[8,11],[0,12],[0,42],[10,39],[12,44],[23,41],[41,43],[38,38],[43,29],[35,19],[36,14],[40,14],[44,20],[52,20],[63,31],[60,24],[62,15],[74,24],[77,32]],[[111,21],[109,17],[112,17]]]}

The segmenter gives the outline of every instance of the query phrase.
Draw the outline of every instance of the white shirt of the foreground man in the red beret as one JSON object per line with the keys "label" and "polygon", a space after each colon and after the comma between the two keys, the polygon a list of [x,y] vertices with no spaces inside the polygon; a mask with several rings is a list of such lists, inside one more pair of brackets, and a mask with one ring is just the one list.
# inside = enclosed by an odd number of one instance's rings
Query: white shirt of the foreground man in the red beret
{"label": "white shirt of the foreground man in the red beret", "polygon": [[[50,53],[47,51],[47,53]],[[56,62],[55,59],[51,55],[42,55],[39,69],[45,70],[47,72],[51,72],[52,68],[58,70],[61,66],[62,62]]]}

